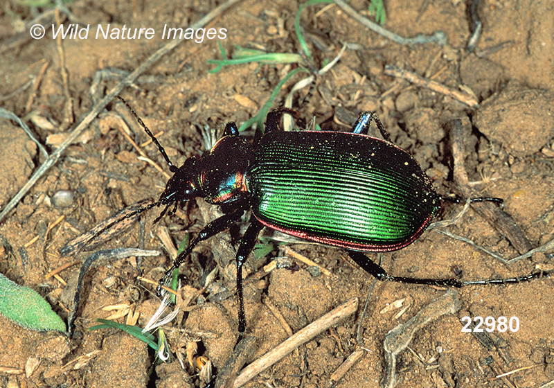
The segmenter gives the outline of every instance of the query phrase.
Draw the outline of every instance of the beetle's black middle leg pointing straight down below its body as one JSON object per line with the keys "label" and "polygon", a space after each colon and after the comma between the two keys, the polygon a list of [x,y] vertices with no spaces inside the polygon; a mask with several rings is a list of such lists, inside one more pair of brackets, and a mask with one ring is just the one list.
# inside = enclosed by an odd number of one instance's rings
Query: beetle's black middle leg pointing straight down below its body
{"label": "beetle's black middle leg pointing straight down below its body", "polygon": [[238,299],[238,341],[242,340],[244,330],[246,330],[247,320],[244,315],[244,297],[242,294],[242,265],[247,261],[250,256],[256,240],[258,240],[258,234],[263,229],[263,224],[258,221],[254,215],[250,218],[250,224],[242,240],[237,252],[237,299]]}

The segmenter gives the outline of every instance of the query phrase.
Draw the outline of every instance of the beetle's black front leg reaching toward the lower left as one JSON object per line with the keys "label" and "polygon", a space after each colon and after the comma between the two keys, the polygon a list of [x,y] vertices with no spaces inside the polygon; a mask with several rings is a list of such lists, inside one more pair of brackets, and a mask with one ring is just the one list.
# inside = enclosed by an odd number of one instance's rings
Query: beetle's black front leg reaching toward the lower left
{"label": "beetle's black front leg reaching toward the lower left", "polygon": [[238,206],[238,208],[233,210],[231,213],[224,214],[220,218],[216,218],[215,220],[207,224],[206,227],[204,227],[204,229],[202,229],[202,231],[198,233],[197,238],[195,238],[192,243],[190,243],[190,245],[188,245],[188,247],[175,258],[175,261],[173,261],[173,265],[166,272],[166,274],[163,275],[163,278],[160,279],[157,288],[158,294],[163,294],[161,286],[168,285],[170,283],[173,270],[175,270],[175,268],[179,268],[179,266],[185,261],[186,256],[188,256],[190,252],[193,252],[194,247],[199,242],[207,240],[208,238],[221,233],[222,231],[228,229],[231,224],[238,222],[238,220],[240,220],[240,218],[242,217],[242,213],[244,213],[244,211],[248,209],[249,206],[249,202],[246,201],[242,206]]}

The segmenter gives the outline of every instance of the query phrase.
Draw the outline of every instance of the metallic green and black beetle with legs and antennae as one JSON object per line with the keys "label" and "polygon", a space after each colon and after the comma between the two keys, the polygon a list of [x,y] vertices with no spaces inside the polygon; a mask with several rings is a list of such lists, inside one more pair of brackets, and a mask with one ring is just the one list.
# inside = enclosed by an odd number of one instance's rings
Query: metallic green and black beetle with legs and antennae
{"label": "metallic green and black beetle with legs and antennae", "polygon": [[[499,198],[452,200],[439,195],[431,180],[408,152],[391,141],[379,118],[361,112],[352,132],[300,131],[280,128],[283,114],[298,119],[287,108],[269,112],[265,134],[249,143],[235,123],[227,123],[224,135],[210,152],[190,157],[177,168],[163,147],[123,98],[168,164],[173,176],[159,200],[136,213],[165,206],[160,220],[173,204],[175,212],[195,197],[219,205],[224,215],[210,222],[175,258],[159,281],[169,283],[172,272],[201,241],[229,229],[244,211],[252,210],[249,227],[242,236],[237,261],[239,340],[246,329],[242,294],[242,265],[251,254],[264,227],[292,236],[341,247],[366,272],[381,281],[447,285],[503,284],[530,281],[550,272],[538,271],[510,279],[460,281],[392,276],[363,252],[391,252],[413,243],[440,210],[443,202],[502,203]],[[384,140],[367,135],[375,121]],[[119,222],[116,220],[94,237]]]}

